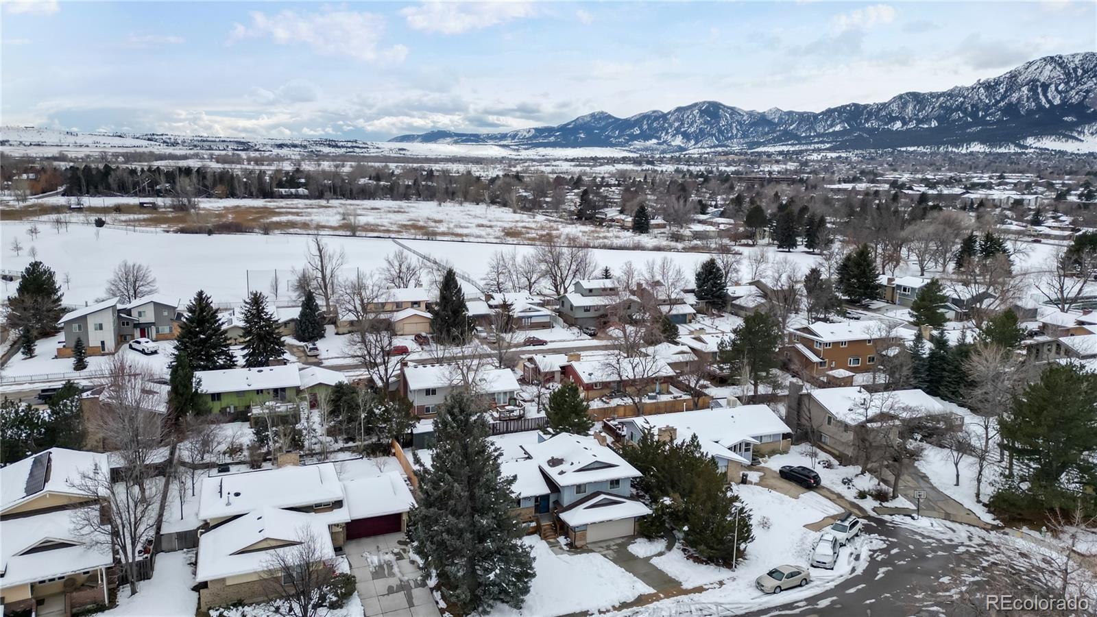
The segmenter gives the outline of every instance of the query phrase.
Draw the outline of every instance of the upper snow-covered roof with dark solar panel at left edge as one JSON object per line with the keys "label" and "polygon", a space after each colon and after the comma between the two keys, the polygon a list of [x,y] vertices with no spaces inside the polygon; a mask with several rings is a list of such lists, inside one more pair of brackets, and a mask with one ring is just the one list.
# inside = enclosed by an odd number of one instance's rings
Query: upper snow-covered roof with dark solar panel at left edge
{"label": "upper snow-covered roof with dark solar panel at left edge", "polygon": [[106,455],[67,448],[49,448],[0,468],[0,513],[43,493],[80,495],[71,484],[97,469],[110,469]]}

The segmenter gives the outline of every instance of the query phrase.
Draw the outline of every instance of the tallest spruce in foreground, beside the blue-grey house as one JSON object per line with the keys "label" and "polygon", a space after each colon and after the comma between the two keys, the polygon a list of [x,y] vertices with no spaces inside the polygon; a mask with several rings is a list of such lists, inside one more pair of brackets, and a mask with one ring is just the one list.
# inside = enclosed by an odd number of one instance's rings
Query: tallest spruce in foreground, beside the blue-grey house
{"label": "tallest spruce in foreground, beside the blue-grey house", "polygon": [[504,475],[489,434],[470,394],[439,405],[432,463],[417,470],[419,505],[408,517],[416,554],[463,615],[499,603],[519,608],[534,575],[525,529],[511,513],[514,476]]}

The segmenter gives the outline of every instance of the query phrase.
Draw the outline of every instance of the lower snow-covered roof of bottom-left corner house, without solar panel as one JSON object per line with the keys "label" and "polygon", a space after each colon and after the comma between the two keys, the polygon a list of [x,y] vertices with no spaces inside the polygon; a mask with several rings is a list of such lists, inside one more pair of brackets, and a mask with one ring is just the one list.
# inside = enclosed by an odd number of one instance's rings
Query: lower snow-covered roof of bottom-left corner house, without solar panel
{"label": "lower snow-covered roof of bottom-left corner house, without solar panel", "polygon": [[[7,482],[5,482],[7,484]],[[113,563],[110,546],[84,543],[72,529],[78,511],[59,509],[5,518],[0,525],[0,586],[34,583],[73,572],[94,570]],[[43,542],[64,542],[67,547],[35,551]]]}

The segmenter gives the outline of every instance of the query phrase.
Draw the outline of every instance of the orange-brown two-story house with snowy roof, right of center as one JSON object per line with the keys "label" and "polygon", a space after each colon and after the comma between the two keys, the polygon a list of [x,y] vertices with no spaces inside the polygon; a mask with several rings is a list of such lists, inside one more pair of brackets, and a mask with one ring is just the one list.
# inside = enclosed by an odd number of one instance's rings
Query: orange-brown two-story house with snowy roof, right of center
{"label": "orange-brown two-story house with snowy roof, right of center", "polygon": [[863,373],[875,368],[877,347],[886,348],[896,340],[894,332],[889,334],[872,319],[815,322],[789,329],[784,354],[802,371],[815,377],[837,369]]}

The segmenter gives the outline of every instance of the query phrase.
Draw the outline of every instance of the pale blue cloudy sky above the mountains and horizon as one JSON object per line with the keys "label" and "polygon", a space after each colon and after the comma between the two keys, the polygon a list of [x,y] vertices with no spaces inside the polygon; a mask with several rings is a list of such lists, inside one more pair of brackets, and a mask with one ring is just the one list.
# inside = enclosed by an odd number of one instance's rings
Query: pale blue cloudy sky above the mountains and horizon
{"label": "pale blue cloudy sky above the mountains and horizon", "polygon": [[3,1],[0,122],[385,139],[818,111],[1097,49],[1097,3]]}

